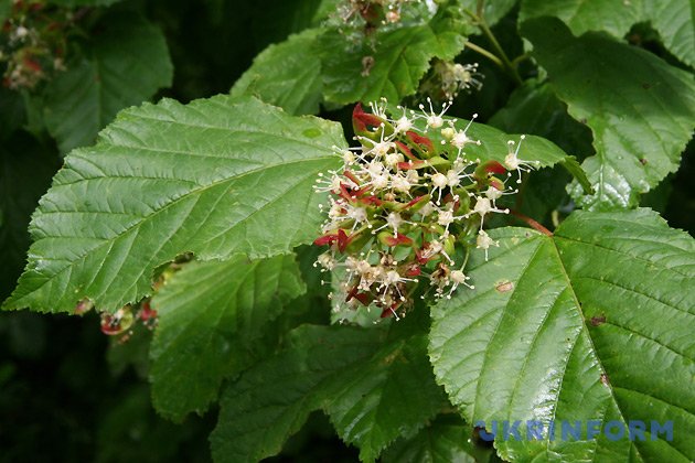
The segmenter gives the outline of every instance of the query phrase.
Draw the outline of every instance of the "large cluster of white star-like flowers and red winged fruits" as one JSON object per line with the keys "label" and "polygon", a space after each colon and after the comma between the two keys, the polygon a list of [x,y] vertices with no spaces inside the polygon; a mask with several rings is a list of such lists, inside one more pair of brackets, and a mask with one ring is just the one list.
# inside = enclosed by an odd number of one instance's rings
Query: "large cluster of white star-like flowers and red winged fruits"
{"label": "large cluster of white star-like flowers and red winged fruits", "polygon": [[473,288],[463,272],[468,255],[478,248],[487,259],[496,246],[484,220],[509,213],[496,204],[516,192],[505,182],[511,171],[521,180],[532,165],[518,159],[521,143],[513,142],[504,163],[471,159],[467,149],[481,144],[468,133],[472,119],[457,129],[456,119],[443,117],[450,103],[439,112],[428,103],[419,112],[397,107],[395,118],[385,100],[372,104],[371,112],[355,106],[360,147],[335,148],[343,165],[319,175],[314,190],[329,193],[320,206],[328,218],[314,245],[329,249],[316,266],[345,274],[331,295],[336,312],[376,306],[382,317],[398,319],[423,288],[419,282],[429,281],[421,298]]}

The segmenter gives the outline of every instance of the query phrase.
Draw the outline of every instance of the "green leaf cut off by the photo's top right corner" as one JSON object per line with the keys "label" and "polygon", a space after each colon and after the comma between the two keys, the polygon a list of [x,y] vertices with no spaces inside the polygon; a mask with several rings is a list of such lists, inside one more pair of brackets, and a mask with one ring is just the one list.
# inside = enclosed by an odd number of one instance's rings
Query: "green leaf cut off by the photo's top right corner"
{"label": "green leaf cut off by the photo's top right corner", "polygon": [[695,3],[692,0],[523,0],[520,21],[558,17],[579,35],[607,31],[623,37],[638,22],[651,22],[664,45],[684,63],[695,66]]}

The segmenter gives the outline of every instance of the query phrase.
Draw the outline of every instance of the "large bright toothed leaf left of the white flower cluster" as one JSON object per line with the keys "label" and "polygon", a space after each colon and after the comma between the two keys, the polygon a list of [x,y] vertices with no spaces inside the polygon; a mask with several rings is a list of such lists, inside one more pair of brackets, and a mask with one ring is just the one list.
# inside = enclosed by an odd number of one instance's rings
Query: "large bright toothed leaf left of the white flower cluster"
{"label": "large bright toothed leaf left of the white flower cluster", "polygon": [[150,293],[152,271],[184,251],[201,260],[284,254],[322,222],[317,172],[339,162],[341,127],[254,98],[172,100],[120,112],[73,151],[34,214],[28,268],[6,309],[114,311]]}

